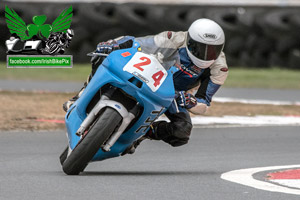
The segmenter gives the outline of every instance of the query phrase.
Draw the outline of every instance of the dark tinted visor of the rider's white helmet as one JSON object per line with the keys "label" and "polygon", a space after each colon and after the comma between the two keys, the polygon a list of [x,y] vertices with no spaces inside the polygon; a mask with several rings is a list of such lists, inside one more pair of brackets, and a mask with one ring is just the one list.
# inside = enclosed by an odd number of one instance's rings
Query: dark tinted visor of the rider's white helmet
{"label": "dark tinted visor of the rider's white helmet", "polygon": [[216,60],[219,57],[223,49],[223,44],[221,45],[203,44],[201,42],[197,42],[193,40],[190,34],[188,34],[187,48],[195,57],[201,60],[209,61],[209,60]]}

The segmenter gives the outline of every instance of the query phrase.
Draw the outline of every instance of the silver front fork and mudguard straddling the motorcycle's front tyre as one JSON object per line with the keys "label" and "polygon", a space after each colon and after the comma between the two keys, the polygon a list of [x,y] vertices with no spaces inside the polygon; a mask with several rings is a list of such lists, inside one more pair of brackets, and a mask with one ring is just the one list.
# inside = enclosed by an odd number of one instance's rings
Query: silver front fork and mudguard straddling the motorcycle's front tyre
{"label": "silver front fork and mudguard straddling the motorcycle's front tyre", "polygon": [[115,131],[111,137],[107,140],[107,142],[101,147],[103,151],[110,151],[110,148],[115,144],[115,142],[119,139],[125,129],[128,127],[130,122],[137,116],[139,110],[139,104],[137,103],[130,111],[128,111],[121,103],[117,101],[110,100],[112,94],[117,88],[113,87],[108,92],[103,94],[95,105],[95,107],[91,110],[88,116],[81,123],[79,129],[76,131],[76,135],[82,136],[85,131],[91,126],[91,124],[96,120],[100,111],[105,107],[111,107],[115,109],[123,118],[122,124]]}

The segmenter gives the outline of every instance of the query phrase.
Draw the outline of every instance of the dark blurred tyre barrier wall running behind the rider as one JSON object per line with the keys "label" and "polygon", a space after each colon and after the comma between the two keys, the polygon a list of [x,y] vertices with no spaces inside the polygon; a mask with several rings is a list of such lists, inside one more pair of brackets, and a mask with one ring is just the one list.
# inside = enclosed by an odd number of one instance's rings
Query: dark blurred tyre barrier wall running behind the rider
{"label": "dark blurred tyre barrier wall running behind the rider", "polygon": [[230,66],[281,66],[300,69],[300,7],[216,6],[142,3],[23,3],[4,2],[0,7],[0,55],[5,59],[9,31],[4,5],[26,23],[44,14],[52,21],[68,6],[74,10],[74,39],[68,53],[74,62],[88,62],[88,52],[100,41],[121,35],[144,36],[165,30],[187,30],[198,18],[219,23],[226,34],[225,53]]}

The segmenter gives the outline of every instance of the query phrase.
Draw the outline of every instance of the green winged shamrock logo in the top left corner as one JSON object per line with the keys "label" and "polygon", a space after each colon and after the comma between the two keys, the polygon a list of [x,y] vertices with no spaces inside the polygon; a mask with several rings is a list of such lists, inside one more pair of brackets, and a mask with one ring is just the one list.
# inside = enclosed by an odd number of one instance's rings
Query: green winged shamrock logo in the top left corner
{"label": "green winged shamrock logo in the top left corner", "polygon": [[73,8],[66,8],[50,24],[44,24],[47,20],[46,15],[33,16],[33,24],[26,25],[22,18],[13,10],[5,6],[5,18],[7,27],[11,34],[17,34],[21,40],[28,40],[33,36],[48,38],[52,32],[64,32],[70,28],[73,16]]}

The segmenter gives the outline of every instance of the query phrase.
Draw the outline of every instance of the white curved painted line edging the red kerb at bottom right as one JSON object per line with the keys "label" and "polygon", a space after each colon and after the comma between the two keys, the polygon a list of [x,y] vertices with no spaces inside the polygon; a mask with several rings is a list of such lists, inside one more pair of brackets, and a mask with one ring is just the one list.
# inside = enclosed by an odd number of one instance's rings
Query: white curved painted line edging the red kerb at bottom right
{"label": "white curved painted line edging the red kerb at bottom right", "polygon": [[260,190],[300,195],[300,190],[278,186],[269,182],[259,181],[253,178],[253,174],[258,172],[280,170],[280,169],[291,169],[291,168],[299,168],[299,167],[300,165],[285,165],[285,166],[240,169],[240,170],[226,172],[221,175],[221,178],[230,182],[246,185]]}

